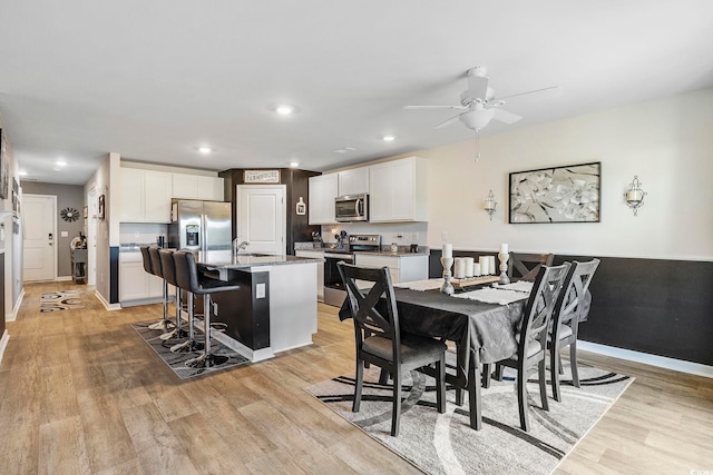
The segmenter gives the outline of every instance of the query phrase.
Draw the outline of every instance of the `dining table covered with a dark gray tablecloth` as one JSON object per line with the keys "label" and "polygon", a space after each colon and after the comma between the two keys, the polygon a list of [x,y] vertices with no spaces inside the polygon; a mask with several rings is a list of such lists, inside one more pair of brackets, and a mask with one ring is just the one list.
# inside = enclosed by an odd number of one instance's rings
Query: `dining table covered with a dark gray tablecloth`
{"label": "dining table covered with a dark gray tablecloth", "polygon": [[[402,331],[450,340],[456,344],[456,372],[447,372],[447,383],[456,388],[480,390],[480,366],[509,358],[517,353],[516,335],[522,320],[528,294],[506,305],[479,301],[470,298],[457,298],[466,290],[456,290],[453,296],[438,289],[413,290],[394,288],[397,311]],[[579,321],[586,320],[592,296],[587,291]],[[380,306],[383,305],[382,308]],[[385,298],[377,305],[379,311],[385,311]],[[351,318],[349,297],[339,310],[340,320]],[[424,373],[430,372],[424,368]],[[470,425],[479,428],[479,394],[471,395]]]}

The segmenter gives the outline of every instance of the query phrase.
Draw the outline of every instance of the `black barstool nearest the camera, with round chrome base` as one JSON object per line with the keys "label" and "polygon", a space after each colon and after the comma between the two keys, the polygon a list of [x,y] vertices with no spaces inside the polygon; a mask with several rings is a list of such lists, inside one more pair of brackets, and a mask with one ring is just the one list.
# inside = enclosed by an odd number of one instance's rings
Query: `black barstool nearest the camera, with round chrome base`
{"label": "black barstool nearest the camera, with round chrome base", "polygon": [[[174,261],[176,267],[176,278],[179,286],[188,293],[188,311],[193,317],[193,298],[195,295],[203,296],[203,330],[205,333],[205,347],[203,355],[188,359],[186,366],[189,367],[211,367],[222,365],[227,362],[227,356],[213,355],[211,353],[211,295],[221,291],[240,290],[238,285],[226,285],[221,280],[198,278],[198,268],[196,266],[193,253],[177,250],[174,253]],[[191,338],[191,337],[188,337]]]}

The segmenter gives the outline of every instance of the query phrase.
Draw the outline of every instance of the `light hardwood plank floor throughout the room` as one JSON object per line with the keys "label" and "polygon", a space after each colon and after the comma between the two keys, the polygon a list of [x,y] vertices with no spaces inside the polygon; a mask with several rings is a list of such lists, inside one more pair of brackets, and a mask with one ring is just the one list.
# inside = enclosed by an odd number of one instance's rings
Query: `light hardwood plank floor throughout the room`
{"label": "light hardwood plank floor throughout the room", "polygon": [[[85,308],[40,314],[79,289]],[[353,329],[320,305],[312,346],[182,382],[86,286],[26,285],[0,365],[2,474],[419,473],[303,388],[353,370]],[[560,474],[713,473],[713,379],[582,353],[636,377]]]}

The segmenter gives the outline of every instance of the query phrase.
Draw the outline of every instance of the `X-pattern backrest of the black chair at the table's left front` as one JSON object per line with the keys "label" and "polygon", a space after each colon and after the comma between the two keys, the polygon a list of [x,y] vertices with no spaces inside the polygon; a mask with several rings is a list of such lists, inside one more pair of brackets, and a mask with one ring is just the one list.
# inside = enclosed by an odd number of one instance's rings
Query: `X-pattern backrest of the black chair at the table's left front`
{"label": "X-pattern backrest of the black chair at the table's left front", "polygon": [[[392,362],[399,364],[401,333],[397,299],[393,294],[389,268],[358,267],[343,261],[338,263],[336,268],[344,283],[344,288],[346,288],[346,298],[354,320],[358,350],[364,339],[365,331],[380,334],[391,339],[393,348]],[[364,288],[364,283],[373,283],[373,286]],[[385,306],[382,307],[380,305],[380,310],[377,309],[377,304],[380,303],[382,296],[385,296]]]}

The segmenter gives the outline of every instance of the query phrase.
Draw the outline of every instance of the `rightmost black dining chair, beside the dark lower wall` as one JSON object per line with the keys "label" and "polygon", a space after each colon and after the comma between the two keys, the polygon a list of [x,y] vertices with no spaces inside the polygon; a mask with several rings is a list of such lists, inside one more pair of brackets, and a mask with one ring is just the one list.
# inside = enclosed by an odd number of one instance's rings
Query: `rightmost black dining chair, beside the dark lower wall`
{"label": "rightmost black dining chair, beside the dark lower wall", "polygon": [[563,283],[563,290],[557,297],[553,311],[553,325],[548,337],[549,370],[551,373],[553,397],[561,400],[559,375],[561,358],[559,350],[569,346],[569,366],[572,367],[572,384],[579,387],[577,369],[577,331],[579,318],[584,311],[584,301],[592,277],[599,266],[599,259],[589,263],[573,261]]}

